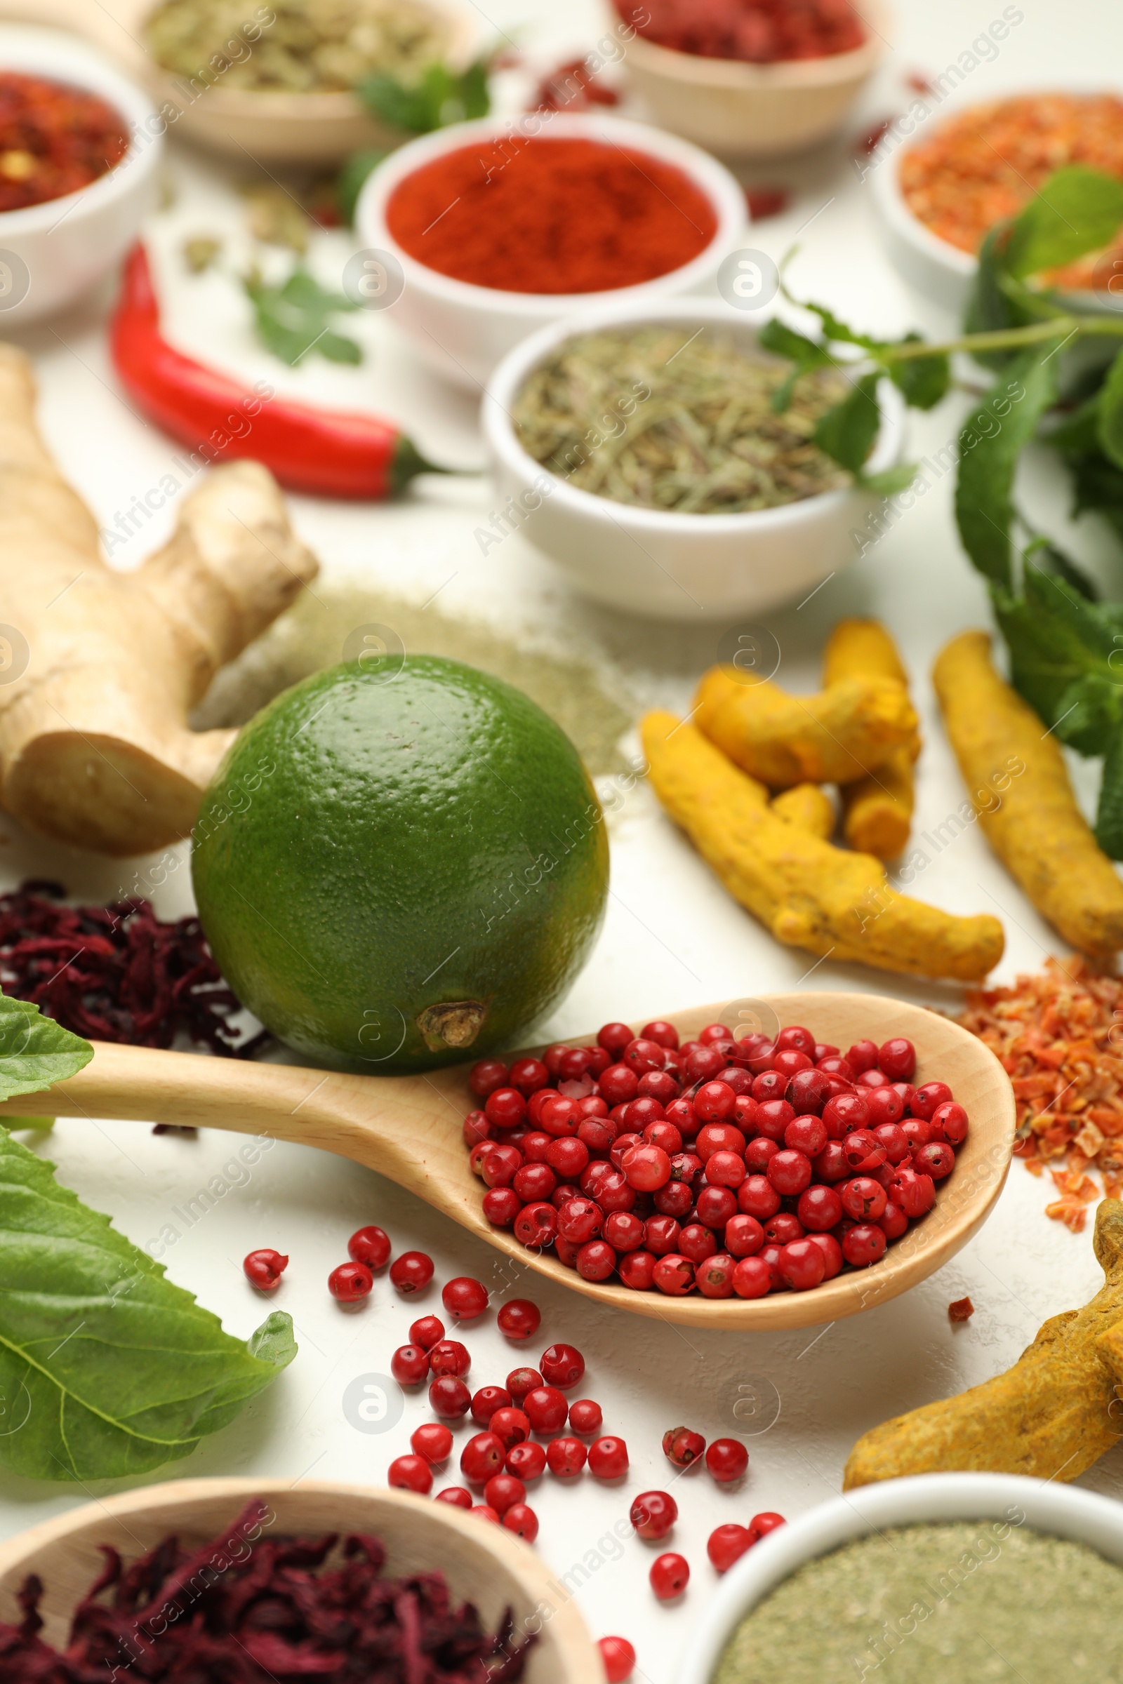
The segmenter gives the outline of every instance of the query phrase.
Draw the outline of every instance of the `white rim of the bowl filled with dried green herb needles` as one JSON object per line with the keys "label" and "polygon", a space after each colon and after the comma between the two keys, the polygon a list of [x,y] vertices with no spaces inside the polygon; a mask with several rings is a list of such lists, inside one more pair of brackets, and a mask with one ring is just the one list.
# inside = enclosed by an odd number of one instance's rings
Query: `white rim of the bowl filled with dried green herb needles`
{"label": "white rim of the bowl filled with dried green herb needles", "polygon": [[[748,313],[732,310],[712,298],[667,298],[650,300],[641,305],[621,310],[601,305],[596,310],[583,310],[551,322],[520,340],[508,350],[495,369],[483,394],[483,431],[497,456],[520,478],[534,480],[546,473],[554,480],[551,502],[559,500],[559,507],[574,514],[596,517],[611,525],[635,527],[640,532],[668,532],[702,536],[704,532],[729,534],[748,529],[768,530],[778,525],[795,525],[800,520],[818,519],[823,512],[840,509],[852,495],[852,485],[842,485],[832,492],[818,492],[815,497],[801,497],[795,504],[783,504],[780,509],[741,509],[734,514],[679,514],[673,509],[641,509],[635,504],[616,504],[611,497],[598,497],[596,492],[584,492],[567,485],[556,473],[530,456],[519,438],[510,419],[510,408],[525,377],[557,345],[577,333],[588,333],[611,327],[641,327],[647,322],[700,322],[704,327],[741,327],[758,330],[773,312]],[[904,443],[904,402],[889,381],[882,382],[879,392],[881,431],[869,460],[869,470],[879,473],[892,466]]]}

